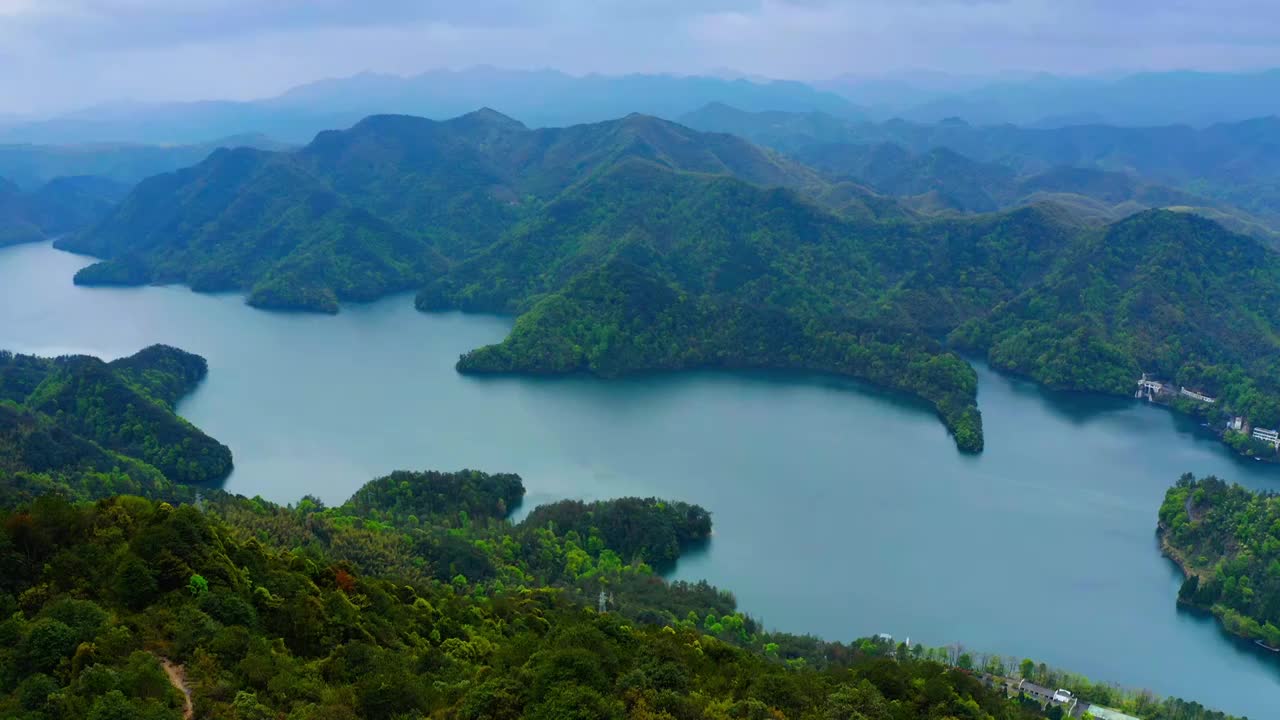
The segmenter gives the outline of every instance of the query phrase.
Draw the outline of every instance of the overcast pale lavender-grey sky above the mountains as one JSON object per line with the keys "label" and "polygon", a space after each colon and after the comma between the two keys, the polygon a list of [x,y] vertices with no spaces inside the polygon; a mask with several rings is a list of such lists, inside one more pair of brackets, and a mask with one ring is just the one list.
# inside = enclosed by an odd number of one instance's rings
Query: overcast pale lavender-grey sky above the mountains
{"label": "overcast pale lavender-grey sky above the mountains", "polygon": [[0,113],[250,99],[361,70],[794,79],[1280,65],[1275,0],[0,0]]}

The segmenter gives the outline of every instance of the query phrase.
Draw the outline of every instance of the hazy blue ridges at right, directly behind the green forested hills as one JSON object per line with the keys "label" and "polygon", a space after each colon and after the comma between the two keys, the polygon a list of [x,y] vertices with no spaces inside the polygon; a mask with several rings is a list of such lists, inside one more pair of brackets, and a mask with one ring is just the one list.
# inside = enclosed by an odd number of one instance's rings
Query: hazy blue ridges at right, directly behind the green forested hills
{"label": "hazy blue ridges at right, directly behind the green forested hills", "polygon": [[828,176],[906,197],[909,208],[925,213],[982,213],[1053,199],[1102,220],[1178,208],[1268,240],[1280,228],[1277,118],[1204,129],[1019,128],[870,123],[710,104],[681,122],[777,149]]}

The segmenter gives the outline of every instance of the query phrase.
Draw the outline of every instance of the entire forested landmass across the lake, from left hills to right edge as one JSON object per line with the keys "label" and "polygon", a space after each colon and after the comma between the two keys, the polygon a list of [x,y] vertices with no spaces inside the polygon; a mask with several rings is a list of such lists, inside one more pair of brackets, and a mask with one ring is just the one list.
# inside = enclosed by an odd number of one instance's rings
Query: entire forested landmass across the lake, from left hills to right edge
{"label": "entire forested landmass across the lake, from left hills to right edge", "polygon": [[105,259],[79,283],[321,311],[420,290],[422,310],[516,315],[461,372],[844,374],[925,400],[965,451],[982,419],[956,351],[1070,391],[1133,395],[1149,374],[1213,397],[1176,405],[1220,429],[1280,427],[1280,260],[1257,238],[1169,210],[922,214],[644,115],[380,115],[296,152],[220,150],[59,247]]}

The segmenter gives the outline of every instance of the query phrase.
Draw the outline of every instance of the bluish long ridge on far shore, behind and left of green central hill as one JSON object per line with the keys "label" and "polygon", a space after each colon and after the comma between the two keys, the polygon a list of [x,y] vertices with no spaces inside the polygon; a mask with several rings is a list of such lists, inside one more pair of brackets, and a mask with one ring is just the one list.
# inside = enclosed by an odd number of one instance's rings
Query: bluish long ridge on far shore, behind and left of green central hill
{"label": "bluish long ridge on far shore, behind and left of green central hill", "polygon": [[492,110],[371,117],[297,152],[219,150],[150,178],[60,247],[108,259],[78,282],[247,290],[268,307],[335,311],[420,287],[564,188],[625,158],[812,188],[817,173],[731,136],[644,115],[530,131]]}

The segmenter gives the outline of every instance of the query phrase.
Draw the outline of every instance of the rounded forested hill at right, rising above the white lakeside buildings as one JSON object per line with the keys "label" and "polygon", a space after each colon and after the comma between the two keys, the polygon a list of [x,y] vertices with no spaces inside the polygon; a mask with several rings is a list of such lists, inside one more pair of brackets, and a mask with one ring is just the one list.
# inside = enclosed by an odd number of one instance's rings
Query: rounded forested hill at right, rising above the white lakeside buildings
{"label": "rounded forested hill at right, rising above the white lakeside buildings", "polygon": [[1132,393],[1140,373],[1280,423],[1280,255],[1193,215],[1085,233],[1039,283],[952,340],[1051,387]]}

